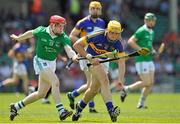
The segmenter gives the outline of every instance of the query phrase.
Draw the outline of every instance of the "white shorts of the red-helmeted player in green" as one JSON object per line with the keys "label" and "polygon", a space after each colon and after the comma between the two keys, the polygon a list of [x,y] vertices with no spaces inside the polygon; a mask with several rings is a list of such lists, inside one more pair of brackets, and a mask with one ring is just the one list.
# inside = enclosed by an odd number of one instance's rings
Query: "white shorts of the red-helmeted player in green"
{"label": "white shorts of the red-helmeted player in green", "polygon": [[40,72],[43,71],[45,68],[49,68],[53,72],[55,72],[56,60],[49,61],[49,60],[44,60],[35,56],[33,59],[33,66],[34,66],[35,74],[40,74]]}

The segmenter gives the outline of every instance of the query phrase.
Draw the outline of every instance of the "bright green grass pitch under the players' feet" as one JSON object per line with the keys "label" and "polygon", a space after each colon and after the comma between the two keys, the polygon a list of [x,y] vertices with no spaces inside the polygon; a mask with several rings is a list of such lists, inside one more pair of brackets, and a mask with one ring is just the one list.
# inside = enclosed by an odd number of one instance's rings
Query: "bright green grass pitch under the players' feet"
{"label": "bright green grass pitch under the players' feet", "polygon": [[[118,123],[180,123],[180,94],[151,94],[146,102],[148,109],[141,110],[136,109],[139,95],[129,94],[125,103],[121,103],[119,94],[113,94],[114,104],[121,108]],[[50,105],[43,105],[41,101],[37,101],[20,110],[20,115],[13,122],[9,121],[9,104],[23,97],[23,94],[0,93],[0,123],[62,123],[59,121],[52,97]],[[61,99],[64,106],[70,109],[65,94]],[[100,95],[95,97],[95,103],[99,113],[90,114],[87,107],[83,111],[83,116],[75,123],[111,123]],[[71,118],[63,122],[74,123]]]}

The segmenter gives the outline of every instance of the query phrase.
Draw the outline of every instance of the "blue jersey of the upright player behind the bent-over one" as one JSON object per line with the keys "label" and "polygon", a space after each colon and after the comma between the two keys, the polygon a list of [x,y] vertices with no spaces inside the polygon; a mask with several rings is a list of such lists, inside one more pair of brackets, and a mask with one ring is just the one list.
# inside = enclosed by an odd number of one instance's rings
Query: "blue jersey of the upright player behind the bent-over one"
{"label": "blue jersey of the upright player behind the bent-over one", "polygon": [[76,24],[75,28],[77,30],[81,30],[80,37],[83,37],[93,31],[104,29],[105,28],[105,22],[104,20],[97,18],[96,22],[94,22],[90,16],[87,16]]}

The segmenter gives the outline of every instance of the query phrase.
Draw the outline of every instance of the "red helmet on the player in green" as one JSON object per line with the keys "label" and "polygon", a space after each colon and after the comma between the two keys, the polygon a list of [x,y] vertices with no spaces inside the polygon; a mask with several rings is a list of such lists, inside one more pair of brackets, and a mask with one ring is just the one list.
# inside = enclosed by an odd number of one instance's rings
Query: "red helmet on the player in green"
{"label": "red helmet on the player in green", "polygon": [[59,16],[59,15],[53,15],[49,19],[49,23],[63,23],[66,24],[66,19]]}

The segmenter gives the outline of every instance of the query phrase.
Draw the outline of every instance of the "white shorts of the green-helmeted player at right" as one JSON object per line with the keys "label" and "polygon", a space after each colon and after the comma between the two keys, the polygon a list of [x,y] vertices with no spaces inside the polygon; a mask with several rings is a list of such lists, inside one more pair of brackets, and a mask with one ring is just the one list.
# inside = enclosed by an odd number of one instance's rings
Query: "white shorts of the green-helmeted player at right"
{"label": "white shorts of the green-helmeted player at right", "polygon": [[152,61],[150,62],[137,62],[136,70],[138,74],[149,73],[150,71],[155,71],[155,66]]}

